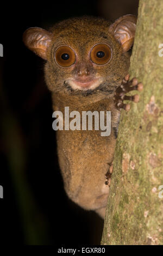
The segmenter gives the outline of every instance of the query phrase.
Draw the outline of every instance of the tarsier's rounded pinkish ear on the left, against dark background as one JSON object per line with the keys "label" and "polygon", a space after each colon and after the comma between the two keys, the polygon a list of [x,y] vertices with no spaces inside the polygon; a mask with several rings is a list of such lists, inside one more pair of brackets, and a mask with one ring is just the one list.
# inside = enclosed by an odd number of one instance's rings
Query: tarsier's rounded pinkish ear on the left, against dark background
{"label": "tarsier's rounded pinkish ear on the left, against dark background", "polygon": [[52,40],[52,33],[43,28],[28,28],[23,34],[23,42],[29,50],[43,59],[47,59],[47,48]]}

